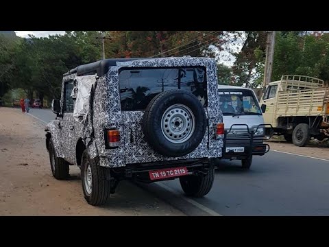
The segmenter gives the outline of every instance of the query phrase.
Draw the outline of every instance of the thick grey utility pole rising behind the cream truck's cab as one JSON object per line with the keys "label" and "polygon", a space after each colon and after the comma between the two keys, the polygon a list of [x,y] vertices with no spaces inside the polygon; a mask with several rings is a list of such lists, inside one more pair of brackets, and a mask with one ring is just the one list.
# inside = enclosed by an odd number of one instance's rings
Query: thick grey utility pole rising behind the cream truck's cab
{"label": "thick grey utility pole rising behind the cream truck's cab", "polygon": [[272,67],[273,67],[273,55],[274,45],[276,43],[276,31],[267,31],[267,43],[266,43],[266,58],[265,58],[265,70],[264,70],[264,87],[265,91],[267,84],[271,82]]}

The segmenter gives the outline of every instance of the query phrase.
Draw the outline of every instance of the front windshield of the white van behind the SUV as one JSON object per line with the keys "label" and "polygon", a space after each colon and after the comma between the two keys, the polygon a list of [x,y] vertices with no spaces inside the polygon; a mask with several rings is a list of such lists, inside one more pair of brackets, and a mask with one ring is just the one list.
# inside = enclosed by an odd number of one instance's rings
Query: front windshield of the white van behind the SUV
{"label": "front windshield of the white van behind the SUV", "polygon": [[262,115],[254,93],[243,89],[219,89],[223,115]]}

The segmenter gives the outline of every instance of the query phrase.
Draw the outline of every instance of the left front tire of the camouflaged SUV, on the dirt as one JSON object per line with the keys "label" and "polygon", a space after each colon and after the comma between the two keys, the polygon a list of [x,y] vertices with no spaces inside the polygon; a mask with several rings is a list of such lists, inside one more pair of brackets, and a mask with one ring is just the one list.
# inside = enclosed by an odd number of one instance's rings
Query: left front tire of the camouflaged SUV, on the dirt
{"label": "left front tire of the camouflaged SUV, on the dirt", "polygon": [[69,177],[70,165],[64,158],[58,158],[56,156],[55,148],[53,146],[53,141],[49,140],[48,145],[50,167],[53,177],[62,180]]}

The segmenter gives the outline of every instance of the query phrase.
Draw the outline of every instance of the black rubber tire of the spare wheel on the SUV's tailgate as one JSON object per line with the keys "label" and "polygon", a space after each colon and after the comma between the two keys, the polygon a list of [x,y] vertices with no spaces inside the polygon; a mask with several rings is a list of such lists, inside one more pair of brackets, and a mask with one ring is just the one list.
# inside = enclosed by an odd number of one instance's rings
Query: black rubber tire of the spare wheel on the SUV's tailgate
{"label": "black rubber tire of the spare wheel on the SUV's tailgate", "polygon": [[[191,137],[182,143],[173,143],[162,133],[162,115],[164,115],[169,107],[175,104],[179,104],[191,110],[195,118],[195,128],[193,132],[190,130]],[[182,126],[184,126],[184,124],[182,124]],[[204,138],[206,126],[206,114],[204,113],[202,104],[191,92],[180,89],[169,90],[156,95],[156,97],[149,102],[143,116],[143,132],[147,143],[159,154],[169,157],[184,156],[193,152]],[[184,128],[188,131],[187,125],[184,126]],[[183,134],[181,135],[183,136]]]}

